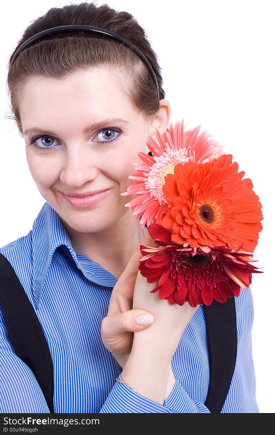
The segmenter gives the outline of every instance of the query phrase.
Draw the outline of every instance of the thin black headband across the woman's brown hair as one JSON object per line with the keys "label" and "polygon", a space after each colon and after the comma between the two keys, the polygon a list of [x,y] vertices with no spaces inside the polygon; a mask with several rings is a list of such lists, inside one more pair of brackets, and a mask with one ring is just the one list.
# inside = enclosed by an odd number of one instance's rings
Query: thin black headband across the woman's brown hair
{"label": "thin black headband across the woman's brown hair", "polygon": [[149,61],[144,56],[144,54],[142,54],[142,52],[134,44],[129,42],[127,39],[123,38],[122,36],[118,35],[117,33],[111,32],[110,30],[102,29],[101,27],[83,26],[83,25],[72,25],[72,26],[52,27],[51,29],[43,30],[42,32],[36,33],[35,35],[33,35],[32,37],[27,39],[27,41],[25,41],[22,45],[20,45],[20,47],[16,50],[16,52],[15,52],[15,54],[13,56],[13,59],[11,61],[11,65],[13,65],[13,63],[15,62],[17,57],[20,55],[20,53],[28,45],[30,45],[30,43],[32,43],[33,41],[36,41],[37,39],[42,38],[44,35],[49,35],[49,34],[54,34],[54,33],[62,33],[62,32],[76,32],[77,30],[86,31],[86,32],[104,33],[105,35],[109,35],[109,36],[111,36],[111,37],[113,37],[113,38],[115,38],[115,39],[125,43],[126,45],[128,45],[128,47],[130,47],[133,51],[135,51],[135,53],[147,65],[147,67],[149,69],[149,72],[150,72],[150,74],[151,74],[151,76],[154,79],[154,82],[156,84],[156,88],[157,88],[157,91],[158,91],[158,98],[159,98],[159,85],[158,85],[158,80],[156,79],[156,74],[155,74],[151,64],[149,63]]}

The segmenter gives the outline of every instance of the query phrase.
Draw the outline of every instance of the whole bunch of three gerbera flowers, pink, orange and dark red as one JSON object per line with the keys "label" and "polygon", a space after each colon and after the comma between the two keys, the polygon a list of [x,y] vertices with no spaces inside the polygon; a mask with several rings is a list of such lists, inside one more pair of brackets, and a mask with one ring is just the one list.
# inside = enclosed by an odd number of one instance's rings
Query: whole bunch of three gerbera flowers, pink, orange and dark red
{"label": "whole bunch of three gerbera flowers, pink, orange and dark red", "polygon": [[135,194],[126,206],[159,245],[140,246],[140,273],[157,281],[151,293],[192,307],[239,296],[261,273],[251,263],[262,204],[232,155],[200,127],[184,132],[176,121],[162,135],[155,130],[159,144],[147,135],[152,156],[136,154],[141,164],[122,194]]}

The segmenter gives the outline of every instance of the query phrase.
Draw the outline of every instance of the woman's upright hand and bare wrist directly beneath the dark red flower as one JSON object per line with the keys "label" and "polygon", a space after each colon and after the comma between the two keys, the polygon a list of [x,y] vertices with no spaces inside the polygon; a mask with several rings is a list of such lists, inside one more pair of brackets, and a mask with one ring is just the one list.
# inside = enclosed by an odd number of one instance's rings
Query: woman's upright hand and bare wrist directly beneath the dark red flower
{"label": "woman's upright hand and bare wrist directly beneath the dark red flower", "polygon": [[176,379],[171,361],[183,331],[199,307],[170,305],[160,299],[158,292],[150,293],[157,282],[149,284],[137,274],[133,308],[139,307],[154,316],[154,322],[143,331],[135,331],[132,351],[121,377],[139,394],[163,404],[172,391]]}

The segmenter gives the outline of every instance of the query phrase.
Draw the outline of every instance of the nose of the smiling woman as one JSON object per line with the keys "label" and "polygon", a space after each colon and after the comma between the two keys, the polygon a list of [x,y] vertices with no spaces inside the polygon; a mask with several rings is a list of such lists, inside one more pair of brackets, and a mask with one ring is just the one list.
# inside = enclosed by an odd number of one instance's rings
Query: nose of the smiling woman
{"label": "nose of the smiling woman", "polygon": [[98,168],[91,151],[81,144],[67,148],[60,172],[63,183],[77,189],[87,181],[93,181],[97,175]]}

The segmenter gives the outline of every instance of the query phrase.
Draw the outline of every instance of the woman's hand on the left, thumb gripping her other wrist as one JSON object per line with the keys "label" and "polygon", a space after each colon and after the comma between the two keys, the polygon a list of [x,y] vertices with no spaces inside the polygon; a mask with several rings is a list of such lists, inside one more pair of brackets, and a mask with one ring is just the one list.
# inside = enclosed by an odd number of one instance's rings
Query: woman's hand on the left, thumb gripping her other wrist
{"label": "woman's hand on the left, thumb gripping her other wrist", "polygon": [[[141,244],[158,247],[148,232]],[[148,310],[140,309],[138,305],[133,309],[133,294],[140,257],[139,244],[113,288],[108,314],[103,318],[101,325],[103,344],[122,368],[132,349],[133,333],[148,328],[153,321]],[[138,325],[136,321],[142,323]]]}

